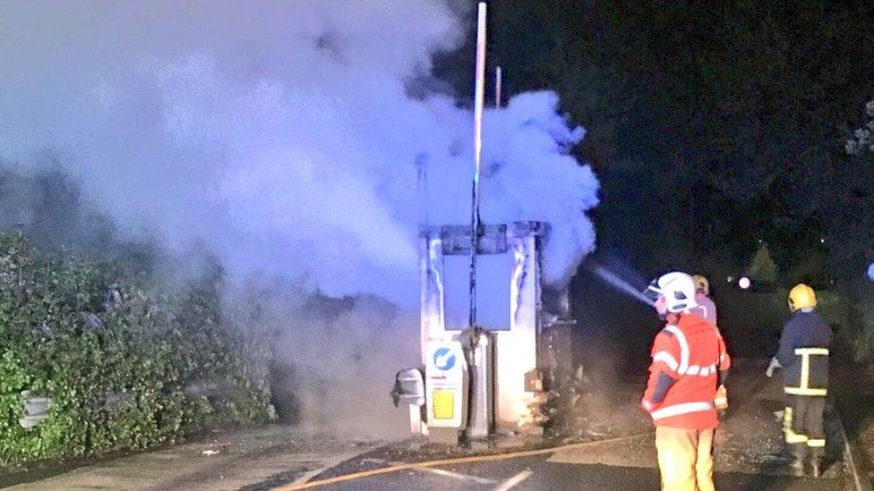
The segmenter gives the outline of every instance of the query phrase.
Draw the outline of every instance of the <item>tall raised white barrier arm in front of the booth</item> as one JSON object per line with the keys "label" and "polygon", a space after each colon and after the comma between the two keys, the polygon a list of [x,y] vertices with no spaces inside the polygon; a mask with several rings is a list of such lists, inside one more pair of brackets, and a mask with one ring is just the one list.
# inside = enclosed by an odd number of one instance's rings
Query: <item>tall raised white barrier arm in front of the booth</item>
{"label": "tall raised white barrier arm in front of the booth", "polygon": [[476,326],[476,250],[479,246],[479,170],[483,153],[483,103],[485,93],[485,3],[479,4],[476,23],[476,89],[474,92],[474,172],[473,206],[470,210],[470,317]]}

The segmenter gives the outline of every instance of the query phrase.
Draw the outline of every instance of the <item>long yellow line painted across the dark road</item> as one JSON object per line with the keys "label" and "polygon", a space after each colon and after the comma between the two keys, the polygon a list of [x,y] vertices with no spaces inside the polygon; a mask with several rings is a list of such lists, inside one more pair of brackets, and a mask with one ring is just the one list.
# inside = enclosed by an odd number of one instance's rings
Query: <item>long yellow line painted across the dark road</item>
{"label": "long yellow line painted across the dark road", "polygon": [[327,479],[319,479],[315,481],[305,482],[301,484],[294,484],[287,487],[277,487],[276,491],[297,491],[298,489],[308,489],[310,487],[320,487],[320,486],[328,486],[331,484],[338,484],[341,482],[347,482],[356,479],[362,478],[371,478],[373,476],[380,476],[382,474],[390,474],[392,472],[398,472],[398,470],[416,470],[417,467],[442,467],[445,465],[456,465],[463,463],[472,463],[472,462],[484,462],[484,461],[506,461],[509,459],[518,459],[521,457],[533,457],[536,455],[544,455],[545,453],[556,453],[561,452],[562,450],[570,450],[574,448],[581,448],[586,446],[591,446],[595,444],[609,444],[613,442],[620,442],[622,440],[629,440],[631,438],[637,438],[638,436],[646,436],[652,435],[652,431],[647,431],[644,433],[636,433],[634,435],[626,435],[626,436],[617,436],[615,438],[607,438],[604,440],[593,440],[591,442],[580,442],[578,444],[566,444],[553,446],[548,448],[538,448],[536,450],[524,450],[519,452],[510,452],[510,453],[495,453],[492,455],[475,455],[472,457],[458,457],[455,459],[443,459],[439,461],[424,461],[424,462],[414,462],[407,464],[398,464],[398,465],[390,465],[388,467],[382,467],[380,469],[373,470],[364,470],[361,472],[355,472],[352,474],[345,474],[343,476],[337,476],[336,478],[327,478]]}

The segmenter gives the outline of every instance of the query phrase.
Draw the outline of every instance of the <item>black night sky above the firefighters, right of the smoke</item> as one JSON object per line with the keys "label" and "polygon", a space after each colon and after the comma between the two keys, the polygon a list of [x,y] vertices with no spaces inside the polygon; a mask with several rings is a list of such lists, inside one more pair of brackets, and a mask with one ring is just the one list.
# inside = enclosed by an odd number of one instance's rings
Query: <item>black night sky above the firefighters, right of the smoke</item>
{"label": "black night sky above the firefighters, right of the smoke", "polygon": [[[782,280],[863,275],[874,165],[844,143],[874,97],[874,5],[500,0],[489,29],[505,94],[556,90],[587,128],[602,253],[731,271],[761,240]],[[462,95],[470,39],[437,66]]]}

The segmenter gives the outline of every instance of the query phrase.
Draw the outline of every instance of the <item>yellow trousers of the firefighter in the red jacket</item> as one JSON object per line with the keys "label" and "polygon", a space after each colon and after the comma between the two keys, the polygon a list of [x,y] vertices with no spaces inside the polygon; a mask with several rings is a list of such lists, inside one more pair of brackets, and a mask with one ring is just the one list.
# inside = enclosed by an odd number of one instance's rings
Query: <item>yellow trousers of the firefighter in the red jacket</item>
{"label": "yellow trousers of the firefighter in the red jacket", "polygon": [[713,429],[656,427],[665,491],[713,491]]}

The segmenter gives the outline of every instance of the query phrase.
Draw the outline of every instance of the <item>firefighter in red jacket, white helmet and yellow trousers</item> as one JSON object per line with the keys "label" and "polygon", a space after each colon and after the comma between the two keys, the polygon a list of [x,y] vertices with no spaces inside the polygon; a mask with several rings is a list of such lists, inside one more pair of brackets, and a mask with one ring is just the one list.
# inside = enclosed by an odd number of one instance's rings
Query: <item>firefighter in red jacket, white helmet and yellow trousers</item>
{"label": "firefighter in red jacket, white helmet and yellow trousers", "polygon": [[696,313],[690,275],[664,275],[648,292],[666,320],[653,343],[649,381],[640,402],[656,427],[662,488],[709,491],[714,489],[714,398],[717,384],[728,375],[729,360],[714,326]]}

